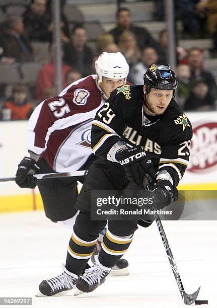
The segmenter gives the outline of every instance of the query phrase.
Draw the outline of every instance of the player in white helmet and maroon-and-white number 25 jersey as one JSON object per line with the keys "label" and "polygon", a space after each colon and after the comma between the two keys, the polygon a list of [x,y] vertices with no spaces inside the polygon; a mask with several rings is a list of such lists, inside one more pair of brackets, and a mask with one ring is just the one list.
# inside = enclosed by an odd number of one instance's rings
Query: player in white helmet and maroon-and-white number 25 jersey
{"label": "player in white helmet and maroon-and-white number 25 jersey", "polygon": [[[35,108],[28,124],[29,157],[20,162],[16,174],[20,187],[38,185],[45,215],[69,228],[73,228],[78,214],[77,181],[83,183],[84,177],[37,182],[32,174],[87,170],[95,161],[91,149],[92,122],[110,93],[126,83],[129,66],[120,52],[103,52],[95,67],[97,74],[74,82],[57,97],[46,99]],[[122,259],[116,269],[125,274],[127,266]]]}

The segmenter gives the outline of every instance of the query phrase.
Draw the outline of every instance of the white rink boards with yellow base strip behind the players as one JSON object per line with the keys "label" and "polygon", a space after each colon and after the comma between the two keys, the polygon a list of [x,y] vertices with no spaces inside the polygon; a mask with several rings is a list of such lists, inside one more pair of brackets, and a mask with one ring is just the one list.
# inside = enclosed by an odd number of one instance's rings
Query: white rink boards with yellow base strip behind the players
{"label": "white rink boards with yellow base strip behind the players", "polygon": [[[190,164],[181,180],[182,190],[217,188],[217,112],[187,113],[193,126]],[[0,177],[15,176],[27,155],[28,121],[0,122]],[[183,157],[184,158],[184,157]],[[21,189],[15,182],[0,183],[0,212],[42,209],[38,189]]]}

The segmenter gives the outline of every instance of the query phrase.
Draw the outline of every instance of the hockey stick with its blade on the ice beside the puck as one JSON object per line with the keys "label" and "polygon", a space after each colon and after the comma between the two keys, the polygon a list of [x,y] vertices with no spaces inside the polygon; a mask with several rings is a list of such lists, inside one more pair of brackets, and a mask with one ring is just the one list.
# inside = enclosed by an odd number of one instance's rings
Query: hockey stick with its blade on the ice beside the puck
{"label": "hockey stick with its blade on the ice beside the puck", "polygon": [[169,259],[169,262],[170,262],[170,266],[171,266],[171,268],[173,270],[173,274],[175,276],[176,283],[177,283],[177,286],[179,288],[179,292],[180,292],[180,294],[182,296],[182,299],[183,299],[184,303],[186,305],[191,305],[197,299],[197,295],[199,293],[200,287],[193,294],[185,293],[185,290],[184,290],[184,287],[183,287],[183,284],[182,284],[182,281],[181,281],[181,278],[180,278],[180,275],[179,275],[179,272],[178,272],[178,268],[176,266],[176,262],[175,262],[175,260],[173,258],[172,251],[170,249],[170,246],[169,246],[166,234],[164,232],[164,228],[163,228],[161,219],[160,219],[159,215],[156,214],[157,213],[157,209],[156,209],[155,206],[152,206],[152,210],[154,211],[155,221],[157,223],[158,230],[159,230],[162,242],[164,244],[164,248],[166,250],[166,253],[167,253],[167,256],[168,256],[168,259]]}

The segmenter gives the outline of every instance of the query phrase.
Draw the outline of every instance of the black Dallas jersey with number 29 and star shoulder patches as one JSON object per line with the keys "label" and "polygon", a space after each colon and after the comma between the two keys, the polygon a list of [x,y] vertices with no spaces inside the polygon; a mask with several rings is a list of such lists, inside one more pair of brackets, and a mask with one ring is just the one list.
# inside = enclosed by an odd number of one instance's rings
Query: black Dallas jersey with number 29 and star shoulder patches
{"label": "black Dallas jersey with number 29 and star shoulder patches", "polygon": [[[92,124],[92,149],[107,158],[118,140],[140,145],[159,170],[167,170],[178,185],[188,166],[192,127],[173,100],[163,115],[147,116],[143,86],[125,85],[114,90]],[[113,163],[115,164],[115,163]]]}

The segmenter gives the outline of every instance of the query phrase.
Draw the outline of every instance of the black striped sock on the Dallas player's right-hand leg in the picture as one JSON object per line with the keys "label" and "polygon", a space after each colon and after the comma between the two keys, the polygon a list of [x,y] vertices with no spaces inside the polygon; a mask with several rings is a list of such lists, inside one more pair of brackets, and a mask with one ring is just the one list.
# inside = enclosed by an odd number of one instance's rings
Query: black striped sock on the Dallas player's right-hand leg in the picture
{"label": "black striped sock on the Dallas player's right-hand leg in the picture", "polygon": [[106,267],[113,267],[127,251],[133,240],[132,236],[133,235],[127,237],[115,236],[107,229],[101,244],[99,254],[100,262]]}

